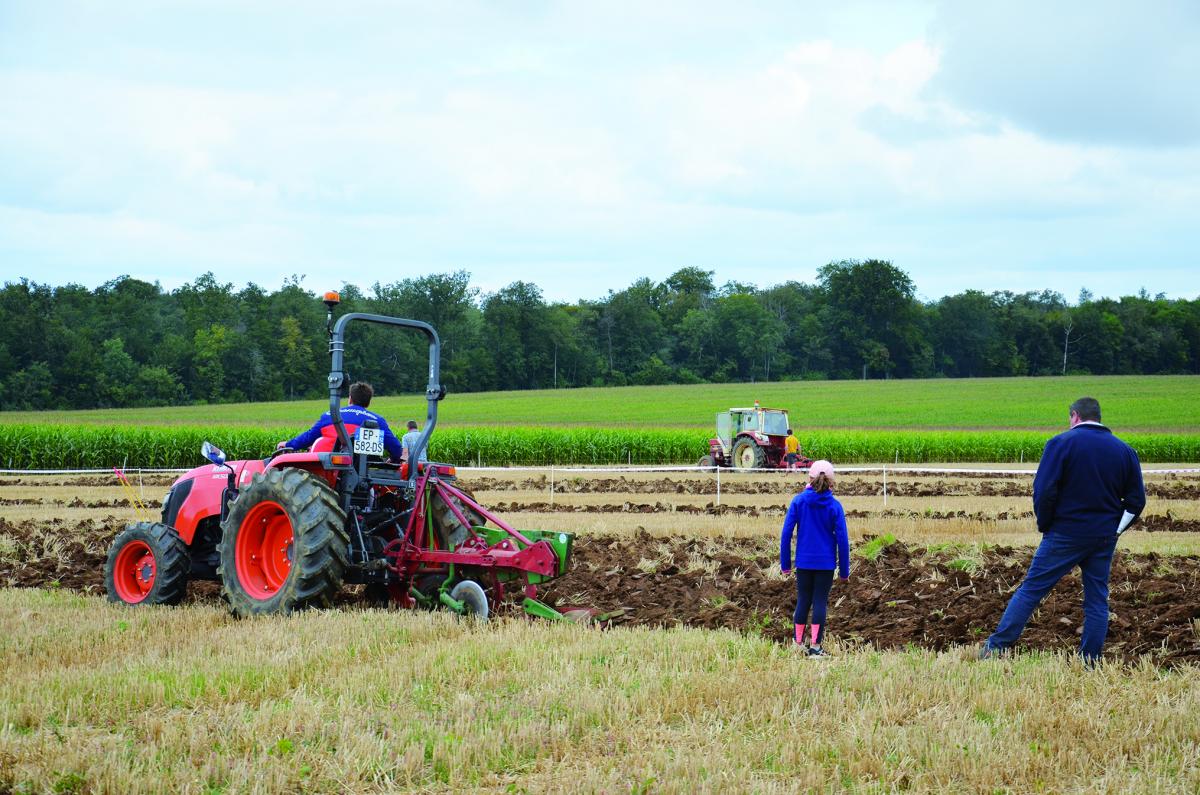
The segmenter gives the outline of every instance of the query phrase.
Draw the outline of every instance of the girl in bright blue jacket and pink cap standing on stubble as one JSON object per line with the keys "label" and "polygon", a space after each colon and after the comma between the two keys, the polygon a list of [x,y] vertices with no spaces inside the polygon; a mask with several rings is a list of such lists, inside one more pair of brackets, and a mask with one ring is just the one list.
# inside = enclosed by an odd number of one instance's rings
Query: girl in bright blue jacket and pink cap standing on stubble
{"label": "girl in bright blue jacket and pink cap standing on stubble", "polygon": [[[796,533],[796,555],[792,555],[792,533]],[[836,551],[836,560],[834,552]],[[787,574],[796,569],[796,644],[804,645],[809,629],[810,657],[824,657],[824,638],[829,588],[836,566],[842,580],[850,578],[850,537],[846,534],[846,512],[833,496],[833,465],[815,461],[809,467],[809,484],[792,498],[784,518],[784,536],[779,544],[779,568]],[[809,622],[809,609],[812,621]]]}

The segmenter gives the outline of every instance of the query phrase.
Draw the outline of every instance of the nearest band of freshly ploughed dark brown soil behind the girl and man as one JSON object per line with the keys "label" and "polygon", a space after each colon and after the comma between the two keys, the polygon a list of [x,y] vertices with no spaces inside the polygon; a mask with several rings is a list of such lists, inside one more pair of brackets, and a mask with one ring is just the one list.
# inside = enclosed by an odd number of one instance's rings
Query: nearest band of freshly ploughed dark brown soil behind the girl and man
{"label": "nearest band of freshly ploughed dark brown soil behind the girl and man", "polygon": [[[26,545],[24,561],[0,556],[0,586],[103,592],[108,544],[124,520],[0,519],[0,534]],[[581,538],[574,569],[542,596],[552,604],[625,608],[625,623],[755,632],[786,642],[793,585],[778,570],[772,538]],[[995,548],[971,557],[902,543],[875,561],[856,557],[848,584],[832,594],[830,632],[881,648],[908,644],[946,648],[978,642],[994,627],[1032,550]],[[36,558],[36,560],[31,560]],[[1108,652],[1160,663],[1200,662],[1200,557],[1120,552],[1112,570]],[[217,600],[214,584],[190,599]],[[1080,585],[1063,580],[1030,624],[1024,641],[1040,648],[1078,644]]]}

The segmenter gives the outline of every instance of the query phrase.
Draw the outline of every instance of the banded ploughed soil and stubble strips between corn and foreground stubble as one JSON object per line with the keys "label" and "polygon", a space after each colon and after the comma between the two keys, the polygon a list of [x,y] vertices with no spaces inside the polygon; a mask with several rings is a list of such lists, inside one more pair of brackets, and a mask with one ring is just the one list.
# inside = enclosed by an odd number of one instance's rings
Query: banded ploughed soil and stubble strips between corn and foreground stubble
{"label": "banded ploughed soil and stubble strips between corn and foreground stubble", "polygon": [[[895,476],[893,476],[895,477]],[[59,479],[60,482],[62,478]],[[791,632],[790,579],[778,570],[778,533],[794,476],[715,479],[634,473],[551,480],[528,472],[470,477],[472,488],[517,526],[578,534],[574,570],[550,590],[563,604],[623,608],[629,623],[721,627],[780,642]],[[1026,476],[991,479],[844,477],[854,576],[835,594],[845,635],[880,648],[947,648],[990,630],[1038,542]],[[151,510],[152,489],[138,488]],[[1151,483],[1146,521],[1121,543],[1112,576],[1110,653],[1156,663],[1200,659],[1200,478]],[[103,590],[108,544],[132,518],[130,496],[103,479],[61,485],[20,478],[0,486],[0,584]],[[896,539],[864,556],[869,539]],[[881,542],[875,542],[878,546]],[[1170,556],[1164,558],[1163,556]],[[1039,611],[1027,640],[1078,642],[1079,582],[1068,578]],[[193,599],[215,599],[196,584]]]}

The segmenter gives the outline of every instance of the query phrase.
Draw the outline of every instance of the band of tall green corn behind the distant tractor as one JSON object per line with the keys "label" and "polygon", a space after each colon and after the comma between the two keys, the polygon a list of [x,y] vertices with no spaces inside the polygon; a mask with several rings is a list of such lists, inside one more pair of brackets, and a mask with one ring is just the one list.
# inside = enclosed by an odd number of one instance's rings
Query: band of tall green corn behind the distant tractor
{"label": "band of tall green corn behind the distant tractor", "polygon": [[[192,467],[205,440],[230,459],[263,458],[284,436],[277,429],[134,428],[121,425],[0,425],[0,466],[10,470]],[[1037,461],[1040,431],[800,432],[811,458],[863,462]],[[1145,462],[1200,461],[1200,435],[1128,434]],[[708,450],[704,430],[593,428],[450,428],[436,430],[430,458],[484,466],[695,464]]]}

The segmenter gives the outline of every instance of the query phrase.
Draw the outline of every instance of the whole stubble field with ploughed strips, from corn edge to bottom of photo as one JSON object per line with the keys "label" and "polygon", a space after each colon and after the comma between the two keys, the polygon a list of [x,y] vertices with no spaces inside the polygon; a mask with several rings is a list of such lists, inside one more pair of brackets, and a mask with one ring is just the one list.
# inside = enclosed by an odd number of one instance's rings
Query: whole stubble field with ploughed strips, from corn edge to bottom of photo
{"label": "whole stubble field with ploughed strips, from corn edge to bottom of photo", "polygon": [[[170,477],[134,485],[156,504]],[[856,548],[829,660],[787,645],[793,477],[472,472],[517,527],[576,532],[560,604],[607,632],[367,609],[235,621],[103,603],[127,495],[0,478],[0,791],[1192,791],[1200,478],[1147,480],[1108,659],[1069,654],[1078,578],[1028,651],[972,660],[1038,540],[1032,478],[844,473]],[[25,590],[36,587],[38,590]],[[1003,760],[1000,764],[998,760]]]}

